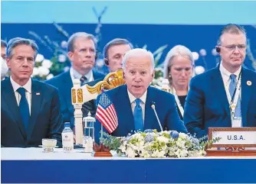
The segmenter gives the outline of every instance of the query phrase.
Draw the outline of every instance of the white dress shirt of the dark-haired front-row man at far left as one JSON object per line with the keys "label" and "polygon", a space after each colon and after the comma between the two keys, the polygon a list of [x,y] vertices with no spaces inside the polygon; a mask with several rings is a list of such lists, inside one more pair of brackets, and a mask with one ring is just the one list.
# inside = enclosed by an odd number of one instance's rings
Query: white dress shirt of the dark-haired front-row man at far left
{"label": "white dress shirt of the dark-haired front-row man at far left", "polygon": [[28,80],[28,82],[24,86],[20,86],[17,82],[15,82],[11,78],[11,76],[10,76],[10,80],[11,80],[12,88],[13,88],[13,90],[15,92],[15,98],[16,98],[18,106],[19,106],[20,101],[21,101],[21,95],[17,92],[17,89],[19,89],[20,87],[25,88],[25,90],[26,90],[26,98],[27,98],[28,107],[29,107],[29,113],[31,115],[31,85],[32,85],[31,78]]}

